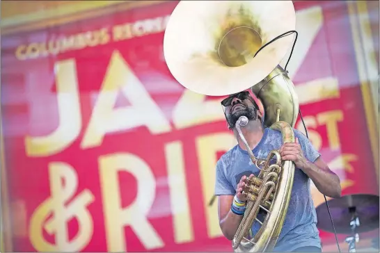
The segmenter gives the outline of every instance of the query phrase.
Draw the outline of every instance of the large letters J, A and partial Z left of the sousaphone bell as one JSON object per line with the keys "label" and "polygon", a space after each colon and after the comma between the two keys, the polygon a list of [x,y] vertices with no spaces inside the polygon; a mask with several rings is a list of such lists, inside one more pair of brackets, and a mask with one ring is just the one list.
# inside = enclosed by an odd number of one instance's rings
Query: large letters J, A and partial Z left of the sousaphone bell
{"label": "large letters J, A and partial Z left of the sousaphone bell", "polygon": [[[60,61],[55,67],[58,127],[47,136],[26,136],[25,147],[28,156],[51,156],[62,152],[77,139],[82,128],[75,60]],[[119,92],[129,100],[131,106],[113,108]],[[183,129],[224,119],[219,101],[204,100],[204,95],[184,90],[173,108],[172,120],[175,128]],[[172,130],[171,123],[141,81],[120,53],[114,51],[90,122],[84,132],[81,148],[100,146],[106,133],[125,131],[138,126],[146,126],[152,134],[169,133]]]}

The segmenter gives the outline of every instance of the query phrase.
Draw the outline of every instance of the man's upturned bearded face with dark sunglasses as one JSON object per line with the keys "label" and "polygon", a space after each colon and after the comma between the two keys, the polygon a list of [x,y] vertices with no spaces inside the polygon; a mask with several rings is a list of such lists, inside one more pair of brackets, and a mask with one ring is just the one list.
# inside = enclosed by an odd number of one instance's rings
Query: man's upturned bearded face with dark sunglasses
{"label": "man's upturned bearded face with dark sunglasses", "polygon": [[258,109],[253,102],[253,98],[246,91],[224,99],[222,105],[224,106],[227,122],[231,127],[235,127],[237,120],[241,116],[248,117],[248,120],[256,120],[258,118]]}

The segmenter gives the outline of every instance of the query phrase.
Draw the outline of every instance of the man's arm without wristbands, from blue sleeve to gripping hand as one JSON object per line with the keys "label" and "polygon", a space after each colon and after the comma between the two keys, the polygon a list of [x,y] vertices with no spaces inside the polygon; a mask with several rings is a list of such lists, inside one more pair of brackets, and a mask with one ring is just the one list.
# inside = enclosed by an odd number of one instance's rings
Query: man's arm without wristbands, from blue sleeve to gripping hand
{"label": "man's arm without wristbands, from blue sleeve to gripping hand", "polygon": [[303,136],[302,133],[297,134],[297,136],[301,140],[296,140],[295,143],[285,143],[280,148],[281,158],[293,161],[296,168],[301,169],[310,177],[320,193],[328,197],[340,197],[342,188],[338,175],[328,168],[328,165],[306,136]]}

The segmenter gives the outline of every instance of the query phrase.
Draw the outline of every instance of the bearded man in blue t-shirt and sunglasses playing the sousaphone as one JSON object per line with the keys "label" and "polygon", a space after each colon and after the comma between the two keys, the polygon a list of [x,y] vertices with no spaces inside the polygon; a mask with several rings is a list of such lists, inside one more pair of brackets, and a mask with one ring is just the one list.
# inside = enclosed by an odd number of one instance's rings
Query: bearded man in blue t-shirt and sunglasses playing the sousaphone
{"label": "bearded man in blue t-shirt and sunglasses playing the sousaphone", "polygon": [[[296,166],[287,215],[274,251],[322,252],[310,183],[315,183],[317,189],[328,197],[340,197],[339,177],[328,168],[310,140],[300,131],[293,129],[296,142],[282,145],[281,133],[262,124],[258,104],[248,91],[230,95],[221,104],[228,127],[238,140],[238,144],[221,156],[216,164],[215,195],[219,196],[219,221],[224,236],[232,240],[242,222],[247,200],[242,195],[244,180],[252,174],[257,177],[259,173],[235,127],[239,117],[246,116],[248,124],[242,128],[242,133],[255,157],[265,159],[271,150],[278,149],[283,160],[293,161]],[[257,216],[258,220],[263,220],[262,217],[262,213]],[[253,222],[252,235],[258,229],[260,223]]]}

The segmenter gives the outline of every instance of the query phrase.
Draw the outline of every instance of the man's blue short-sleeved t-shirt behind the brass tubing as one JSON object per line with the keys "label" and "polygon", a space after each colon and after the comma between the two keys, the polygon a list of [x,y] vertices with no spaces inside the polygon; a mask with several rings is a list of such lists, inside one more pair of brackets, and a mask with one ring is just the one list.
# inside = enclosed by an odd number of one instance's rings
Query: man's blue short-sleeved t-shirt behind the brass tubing
{"label": "man's blue short-sleeved t-shirt behind the brass tubing", "polygon": [[[314,162],[319,156],[319,152],[312,147],[306,136],[300,131],[293,129],[294,135],[299,139],[303,154],[310,161]],[[279,149],[283,145],[283,139],[279,131],[266,128],[264,136],[253,149],[256,158],[265,159],[273,149]],[[215,195],[235,195],[237,183],[246,175],[255,174],[258,176],[259,170],[253,165],[248,156],[248,152],[236,145],[223,154],[216,163],[216,186]],[[317,214],[312,202],[310,192],[311,179],[302,171],[296,168],[292,194],[290,197],[287,215],[278,237],[275,252],[291,252],[299,247],[316,246],[321,248],[321,240],[317,229]],[[263,220],[262,215],[258,215],[259,220]],[[260,225],[253,222],[252,231],[255,234]]]}

